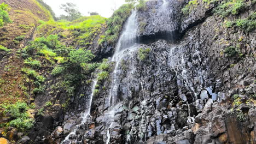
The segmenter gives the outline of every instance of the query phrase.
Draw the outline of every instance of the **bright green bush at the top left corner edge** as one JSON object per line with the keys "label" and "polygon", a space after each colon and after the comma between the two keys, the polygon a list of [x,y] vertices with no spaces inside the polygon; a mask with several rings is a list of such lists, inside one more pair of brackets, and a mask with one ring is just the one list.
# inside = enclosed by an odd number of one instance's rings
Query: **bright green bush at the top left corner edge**
{"label": "bright green bush at the top left corner edge", "polygon": [[0,27],[5,25],[5,23],[12,22],[8,14],[9,9],[10,8],[8,4],[5,4],[5,3],[0,4]]}

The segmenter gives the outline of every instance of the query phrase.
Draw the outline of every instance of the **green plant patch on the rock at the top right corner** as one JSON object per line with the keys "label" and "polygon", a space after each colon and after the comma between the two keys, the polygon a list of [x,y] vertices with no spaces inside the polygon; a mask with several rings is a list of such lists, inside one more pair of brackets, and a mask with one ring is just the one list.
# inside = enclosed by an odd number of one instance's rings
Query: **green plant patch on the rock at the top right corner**
{"label": "green plant patch on the rock at the top right corner", "polygon": [[226,17],[230,14],[237,15],[246,8],[244,0],[225,0],[213,10],[216,15]]}

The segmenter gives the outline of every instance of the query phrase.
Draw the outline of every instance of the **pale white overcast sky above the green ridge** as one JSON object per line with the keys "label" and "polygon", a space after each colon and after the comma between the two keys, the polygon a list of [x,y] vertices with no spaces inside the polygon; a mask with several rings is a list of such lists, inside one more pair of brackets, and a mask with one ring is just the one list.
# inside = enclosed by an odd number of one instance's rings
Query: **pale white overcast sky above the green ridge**
{"label": "pale white overcast sky above the green ridge", "polygon": [[50,5],[56,16],[65,14],[65,11],[60,9],[61,4],[71,2],[77,5],[78,10],[84,16],[88,16],[88,11],[97,12],[103,17],[110,17],[113,14],[113,8],[117,9],[125,3],[125,0],[43,0]]}

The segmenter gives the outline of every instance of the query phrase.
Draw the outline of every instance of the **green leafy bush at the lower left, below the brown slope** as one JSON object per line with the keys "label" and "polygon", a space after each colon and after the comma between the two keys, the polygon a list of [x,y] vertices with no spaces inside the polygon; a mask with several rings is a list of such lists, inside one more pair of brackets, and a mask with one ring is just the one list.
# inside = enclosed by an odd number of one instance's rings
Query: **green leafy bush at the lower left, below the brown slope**
{"label": "green leafy bush at the lower left, below the brown slope", "polygon": [[8,123],[2,124],[4,127],[15,127],[20,131],[27,131],[34,125],[34,119],[30,118],[27,110],[30,107],[26,103],[17,102],[15,104],[2,105],[5,109],[4,114],[7,113],[13,119]]}

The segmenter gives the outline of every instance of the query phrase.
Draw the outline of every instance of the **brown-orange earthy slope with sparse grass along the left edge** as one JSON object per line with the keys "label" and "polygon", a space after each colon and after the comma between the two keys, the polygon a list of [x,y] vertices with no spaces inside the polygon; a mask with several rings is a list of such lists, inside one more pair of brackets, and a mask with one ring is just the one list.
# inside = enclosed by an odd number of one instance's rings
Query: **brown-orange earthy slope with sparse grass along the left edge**
{"label": "brown-orange earthy slope with sparse grass along the left edge", "polygon": [[[0,28],[0,45],[11,50],[9,53],[2,52],[4,57],[0,60],[0,104],[15,103],[29,98],[31,88],[28,87],[28,80],[20,71],[24,63],[18,57],[17,51],[31,39],[34,29],[39,25],[39,20],[52,19],[49,11],[39,5],[36,0],[4,0],[3,2],[11,8],[9,15],[13,23]],[[25,35],[24,40],[15,44],[13,40],[20,35]]]}

